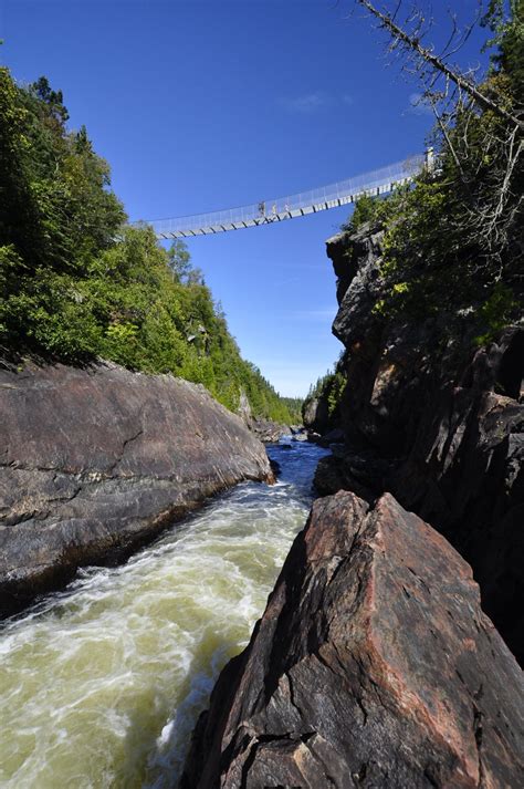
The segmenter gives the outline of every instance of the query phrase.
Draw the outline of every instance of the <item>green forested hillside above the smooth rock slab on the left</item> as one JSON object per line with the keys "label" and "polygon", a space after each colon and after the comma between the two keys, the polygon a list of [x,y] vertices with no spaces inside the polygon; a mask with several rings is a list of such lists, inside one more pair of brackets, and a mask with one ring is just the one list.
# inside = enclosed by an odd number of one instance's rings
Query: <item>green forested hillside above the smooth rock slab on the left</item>
{"label": "green forested hillside above the smooth rock slab on the left", "polygon": [[67,127],[60,91],[0,69],[0,345],[78,364],[103,357],[202,383],[231,409],[296,422],[245,362],[180,242],[126,225],[109,167],[85,127]]}

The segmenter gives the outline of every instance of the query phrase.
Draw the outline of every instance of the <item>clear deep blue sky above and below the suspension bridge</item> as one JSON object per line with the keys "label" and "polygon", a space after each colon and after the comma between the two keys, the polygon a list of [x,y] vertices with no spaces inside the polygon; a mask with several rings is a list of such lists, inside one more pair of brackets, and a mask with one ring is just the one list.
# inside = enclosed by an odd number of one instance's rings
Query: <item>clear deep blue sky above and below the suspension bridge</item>
{"label": "clear deep blue sky above and below the suspension bridge", "polygon": [[[384,55],[369,20],[348,18],[352,8],[0,0],[0,54],[19,81],[45,74],[63,91],[71,126],[85,123],[132,220],[199,214],[423,150],[431,122],[412,106],[417,85]],[[347,214],[188,243],[242,354],[282,394],[304,395],[342,350],[324,241]]]}

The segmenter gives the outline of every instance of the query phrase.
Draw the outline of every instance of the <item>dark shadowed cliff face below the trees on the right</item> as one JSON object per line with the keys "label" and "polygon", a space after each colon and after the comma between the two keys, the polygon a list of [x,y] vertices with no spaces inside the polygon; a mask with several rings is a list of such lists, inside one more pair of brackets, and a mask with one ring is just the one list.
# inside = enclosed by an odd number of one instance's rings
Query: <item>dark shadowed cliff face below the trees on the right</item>
{"label": "dark shadowed cliff face below the trees on the right", "polygon": [[390,490],[444,533],[523,661],[524,330],[476,349],[467,330],[442,341],[446,316],[386,320],[374,311],[380,241],[363,228],[327,242],[339,303],[333,331],[346,346],[349,385],[346,450],[324,461],[317,484],[366,498]]}

